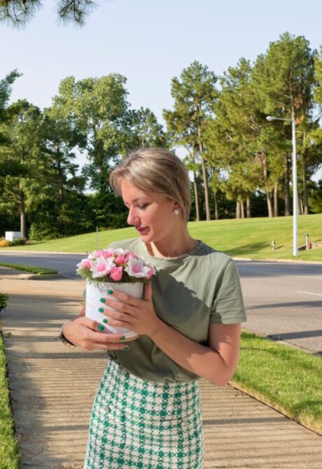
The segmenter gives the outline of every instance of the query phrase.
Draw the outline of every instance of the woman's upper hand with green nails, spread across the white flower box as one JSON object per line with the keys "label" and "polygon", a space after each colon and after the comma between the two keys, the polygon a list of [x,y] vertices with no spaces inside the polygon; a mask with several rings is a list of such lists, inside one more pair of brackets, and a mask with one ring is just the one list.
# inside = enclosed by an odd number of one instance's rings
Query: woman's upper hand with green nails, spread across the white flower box
{"label": "woman's upper hand with green nails, spread across the white flower box", "polygon": [[139,335],[153,335],[160,319],[153,308],[151,283],[146,284],[143,300],[117,290],[113,290],[111,296],[119,301],[105,298],[105,304],[116,310],[105,309],[104,314],[108,316],[108,325],[130,329]]}

